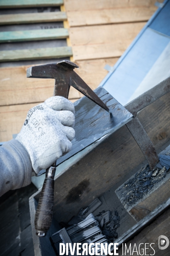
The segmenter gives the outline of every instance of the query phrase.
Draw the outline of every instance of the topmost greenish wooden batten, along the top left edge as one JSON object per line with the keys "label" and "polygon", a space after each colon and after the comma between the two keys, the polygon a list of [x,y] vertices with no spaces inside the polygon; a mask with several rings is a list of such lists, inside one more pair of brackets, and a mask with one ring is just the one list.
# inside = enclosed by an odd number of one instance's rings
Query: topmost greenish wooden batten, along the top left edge
{"label": "topmost greenish wooden batten, along the top left edge", "polygon": [[0,8],[60,6],[63,0],[1,0]]}

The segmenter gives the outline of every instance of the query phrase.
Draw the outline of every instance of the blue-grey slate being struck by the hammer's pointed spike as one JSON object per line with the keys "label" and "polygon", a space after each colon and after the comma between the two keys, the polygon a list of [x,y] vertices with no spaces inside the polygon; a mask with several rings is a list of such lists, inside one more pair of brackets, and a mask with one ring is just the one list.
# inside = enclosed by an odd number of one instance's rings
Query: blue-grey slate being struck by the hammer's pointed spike
{"label": "blue-grey slate being struck by the hammer's pointed spike", "polygon": [[[133,115],[105,89],[99,87],[95,90],[95,93],[107,105],[111,114],[85,96],[75,102],[76,121],[74,129],[76,135],[72,140],[73,146],[68,154],[57,160],[57,166],[104,135],[116,131],[132,119]],[[44,170],[39,175],[42,173],[44,173]]]}

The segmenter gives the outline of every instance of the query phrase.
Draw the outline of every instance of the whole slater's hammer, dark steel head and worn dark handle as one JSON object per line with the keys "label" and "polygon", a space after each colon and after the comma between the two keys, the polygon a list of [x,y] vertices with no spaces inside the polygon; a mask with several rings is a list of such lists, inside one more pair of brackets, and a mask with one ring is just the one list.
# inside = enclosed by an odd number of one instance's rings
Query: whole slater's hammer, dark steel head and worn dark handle
{"label": "whole slater's hammer, dark steel head and worn dark handle", "polygon": [[[70,86],[73,86],[93,102],[109,112],[108,107],[94,93],[93,90],[74,72],[78,67],[71,61],[59,61],[27,69],[27,77],[55,79],[54,96],[63,96],[68,99]],[[35,214],[36,235],[43,237],[50,228],[54,206],[54,176],[56,163],[46,169],[45,180],[42,186],[37,211]]]}

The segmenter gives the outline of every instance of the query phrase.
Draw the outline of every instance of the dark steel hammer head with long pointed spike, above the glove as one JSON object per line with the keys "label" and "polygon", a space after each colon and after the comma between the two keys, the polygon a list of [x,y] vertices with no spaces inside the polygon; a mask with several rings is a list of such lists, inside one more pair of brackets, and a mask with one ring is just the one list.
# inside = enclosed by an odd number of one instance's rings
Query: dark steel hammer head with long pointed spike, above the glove
{"label": "dark steel hammer head with long pointed spike, above the glove", "polygon": [[59,61],[57,63],[45,64],[40,66],[29,67],[27,77],[30,78],[53,78],[55,79],[54,96],[63,96],[68,98],[70,86],[73,86],[79,92],[83,93],[93,102],[109,112],[108,107],[94,93],[93,90],[74,72],[78,67],[71,61]]}

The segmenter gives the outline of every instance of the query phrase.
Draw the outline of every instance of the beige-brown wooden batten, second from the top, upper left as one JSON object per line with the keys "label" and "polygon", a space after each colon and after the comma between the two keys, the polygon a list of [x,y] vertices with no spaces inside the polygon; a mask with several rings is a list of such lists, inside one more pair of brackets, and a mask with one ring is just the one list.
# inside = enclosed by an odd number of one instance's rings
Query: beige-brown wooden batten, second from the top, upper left
{"label": "beige-brown wooden batten, second from the top, upper left", "polygon": [[38,12],[0,15],[0,25],[55,22],[67,20],[65,12]]}

